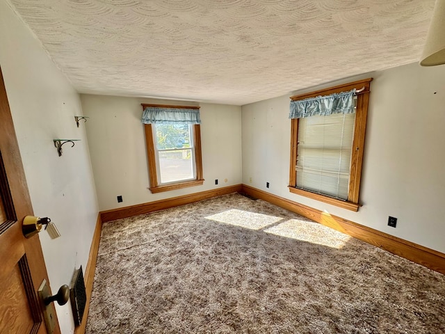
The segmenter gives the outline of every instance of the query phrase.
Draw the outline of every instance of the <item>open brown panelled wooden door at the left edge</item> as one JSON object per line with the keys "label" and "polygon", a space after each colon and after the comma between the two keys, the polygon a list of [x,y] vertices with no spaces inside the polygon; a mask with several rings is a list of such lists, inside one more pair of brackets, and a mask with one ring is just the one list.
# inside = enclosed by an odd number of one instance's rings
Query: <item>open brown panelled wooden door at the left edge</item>
{"label": "open brown panelled wooden door at the left edge", "polygon": [[[26,239],[22,233],[24,217],[32,215],[33,208],[0,69],[1,334],[47,334],[42,303],[38,299],[40,284],[44,279],[49,282],[40,239],[38,234]],[[56,317],[54,305],[50,307]],[[53,333],[60,334],[55,320]]]}

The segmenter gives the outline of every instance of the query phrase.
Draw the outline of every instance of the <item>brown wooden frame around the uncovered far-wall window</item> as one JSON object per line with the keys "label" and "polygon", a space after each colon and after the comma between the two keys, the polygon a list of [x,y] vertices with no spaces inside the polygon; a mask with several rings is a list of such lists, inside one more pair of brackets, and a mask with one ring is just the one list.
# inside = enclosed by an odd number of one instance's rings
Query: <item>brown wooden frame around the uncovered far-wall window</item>
{"label": "brown wooden frame around the uncovered far-wall window", "polygon": [[[141,104],[143,109],[151,107],[170,108],[170,109],[200,109],[199,106],[171,106],[168,104]],[[188,186],[200,186],[204,184],[204,178],[202,177],[202,150],[201,150],[201,126],[199,124],[193,125],[193,142],[195,144],[195,166],[196,166],[196,179],[188,181],[179,181],[177,183],[160,185],[158,184],[158,173],[156,170],[156,157],[154,148],[154,136],[153,127],[151,124],[145,124],[145,143],[147,147],[147,160],[148,160],[148,177],[150,181],[149,191],[152,193],[161,193],[163,191],[171,191]]]}

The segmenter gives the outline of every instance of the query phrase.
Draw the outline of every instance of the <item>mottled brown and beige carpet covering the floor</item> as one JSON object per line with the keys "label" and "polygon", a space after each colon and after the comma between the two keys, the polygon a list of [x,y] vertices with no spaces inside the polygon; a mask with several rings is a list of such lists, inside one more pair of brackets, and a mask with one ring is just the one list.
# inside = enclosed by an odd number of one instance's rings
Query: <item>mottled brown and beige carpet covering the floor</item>
{"label": "mottled brown and beige carpet covering the floor", "polygon": [[104,223],[87,333],[445,333],[445,276],[231,194]]}

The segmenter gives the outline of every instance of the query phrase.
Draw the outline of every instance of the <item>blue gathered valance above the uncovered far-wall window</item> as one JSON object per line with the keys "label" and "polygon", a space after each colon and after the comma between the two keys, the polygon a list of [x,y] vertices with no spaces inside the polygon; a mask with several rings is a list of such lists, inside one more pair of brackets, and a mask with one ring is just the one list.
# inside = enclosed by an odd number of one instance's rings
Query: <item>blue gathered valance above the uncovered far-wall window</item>
{"label": "blue gathered valance above the uncovered far-wall window", "polygon": [[186,122],[188,124],[201,124],[200,109],[179,109],[159,106],[147,106],[142,116],[144,124],[162,124]]}

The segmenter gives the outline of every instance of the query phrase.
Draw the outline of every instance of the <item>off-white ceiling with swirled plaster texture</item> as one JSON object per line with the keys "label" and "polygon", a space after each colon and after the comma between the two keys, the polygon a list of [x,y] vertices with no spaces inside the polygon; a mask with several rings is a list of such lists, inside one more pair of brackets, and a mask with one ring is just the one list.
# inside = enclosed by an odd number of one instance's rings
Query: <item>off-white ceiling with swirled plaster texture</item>
{"label": "off-white ceiling with swirled plaster texture", "polygon": [[418,61],[434,0],[7,0],[80,93],[248,104]]}

